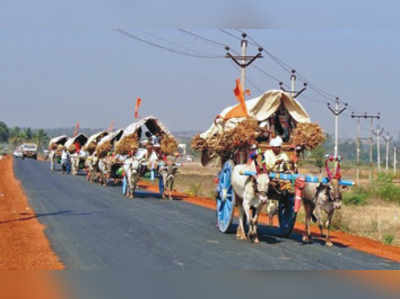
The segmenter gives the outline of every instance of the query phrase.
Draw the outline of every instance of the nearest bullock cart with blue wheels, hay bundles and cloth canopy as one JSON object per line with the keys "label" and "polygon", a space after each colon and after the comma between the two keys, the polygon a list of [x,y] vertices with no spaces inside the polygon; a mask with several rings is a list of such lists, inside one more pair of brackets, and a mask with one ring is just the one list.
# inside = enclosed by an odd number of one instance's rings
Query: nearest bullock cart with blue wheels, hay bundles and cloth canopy
{"label": "nearest bullock cart with blue wheels, hay bundles and cloth canopy", "polygon": [[[203,166],[214,158],[220,159],[216,215],[217,227],[223,233],[230,231],[234,218],[236,201],[231,177],[235,165],[245,164],[254,148],[264,152],[268,149],[271,138],[281,136],[284,141],[282,150],[290,158],[285,173],[297,173],[297,161],[301,152],[318,146],[324,140],[322,130],[311,123],[302,105],[285,92],[267,91],[245,104],[247,115],[235,116],[239,105],[227,107],[207,131],[195,136],[192,141],[192,148],[201,151]],[[269,174],[270,177],[280,177],[284,173]],[[295,180],[291,178],[289,182],[293,190]],[[280,234],[289,236],[298,211],[297,207],[295,209],[294,190],[269,198],[278,201]]]}

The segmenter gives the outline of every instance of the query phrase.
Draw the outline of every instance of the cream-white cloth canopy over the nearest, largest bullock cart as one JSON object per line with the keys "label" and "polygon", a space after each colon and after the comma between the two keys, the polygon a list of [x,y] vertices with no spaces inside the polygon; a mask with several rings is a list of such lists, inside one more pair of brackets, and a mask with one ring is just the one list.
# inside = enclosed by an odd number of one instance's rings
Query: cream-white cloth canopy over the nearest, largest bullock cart
{"label": "cream-white cloth canopy over the nearest, largest bullock cart", "polygon": [[[310,117],[303,106],[293,99],[289,94],[281,90],[269,90],[259,97],[246,101],[247,111],[249,116],[255,118],[259,122],[267,120],[274,114],[279,106],[283,104],[290,116],[298,123],[310,123]],[[222,110],[220,115],[224,117],[237,105],[233,105]],[[230,130],[236,127],[238,123],[245,118],[231,118],[226,121],[224,130]],[[200,135],[201,138],[207,139],[215,135],[221,130],[221,125],[212,124],[212,126]]]}

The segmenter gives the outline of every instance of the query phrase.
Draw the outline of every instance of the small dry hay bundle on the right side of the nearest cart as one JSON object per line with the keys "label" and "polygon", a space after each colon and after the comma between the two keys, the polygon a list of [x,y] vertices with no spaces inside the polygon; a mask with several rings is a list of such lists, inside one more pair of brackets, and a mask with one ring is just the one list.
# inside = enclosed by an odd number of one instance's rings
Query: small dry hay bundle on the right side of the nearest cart
{"label": "small dry hay bundle on the right side of the nearest cart", "polygon": [[299,123],[292,132],[291,143],[312,150],[325,141],[325,134],[316,123]]}

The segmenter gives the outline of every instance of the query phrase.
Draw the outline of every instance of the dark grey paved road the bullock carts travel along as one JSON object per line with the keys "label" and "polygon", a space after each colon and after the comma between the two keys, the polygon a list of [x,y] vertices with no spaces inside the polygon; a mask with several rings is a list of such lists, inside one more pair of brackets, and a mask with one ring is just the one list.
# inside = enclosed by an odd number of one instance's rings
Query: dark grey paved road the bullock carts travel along
{"label": "dark grey paved road the bullock carts travel along", "polygon": [[215,212],[154,197],[127,200],[118,187],[51,173],[47,163],[16,160],[39,221],[67,269],[325,270],[400,269],[350,248],[303,245],[261,227],[261,244],[215,227]]}

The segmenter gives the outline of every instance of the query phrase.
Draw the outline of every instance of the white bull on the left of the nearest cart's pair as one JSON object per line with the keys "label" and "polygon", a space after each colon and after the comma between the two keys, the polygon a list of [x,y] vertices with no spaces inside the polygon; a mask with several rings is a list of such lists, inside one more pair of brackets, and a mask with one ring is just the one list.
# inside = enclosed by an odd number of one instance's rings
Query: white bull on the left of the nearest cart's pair
{"label": "white bull on the left of the nearest cart's pair", "polygon": [[[257,173],[252,176],[243,175],[245,171],[254,171],[254,166],[236,165],[232,171],[232,186],[239,207],[239,225],[236,231],[237,239],[249,239],[258,243],[257,221],[261,209],[268,201],[269,176],[267,173]],[[252,213],[251,213],[252,210]],[[244,217],[246,216],[249,231],[246,236]]]}

